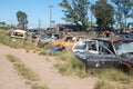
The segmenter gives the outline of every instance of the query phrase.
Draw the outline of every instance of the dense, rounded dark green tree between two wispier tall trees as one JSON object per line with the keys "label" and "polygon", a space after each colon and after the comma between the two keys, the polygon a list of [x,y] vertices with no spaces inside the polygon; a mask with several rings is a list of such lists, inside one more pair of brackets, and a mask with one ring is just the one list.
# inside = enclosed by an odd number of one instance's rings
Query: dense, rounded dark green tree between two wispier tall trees
{"label": "dense, rounded dark green tree between two wispier tall trees", "polygon": [[102,29],[108,29],[114,23],[114,9],[106,0],[99,0],[91,6],[91,11],[96,19],[96,24]]}

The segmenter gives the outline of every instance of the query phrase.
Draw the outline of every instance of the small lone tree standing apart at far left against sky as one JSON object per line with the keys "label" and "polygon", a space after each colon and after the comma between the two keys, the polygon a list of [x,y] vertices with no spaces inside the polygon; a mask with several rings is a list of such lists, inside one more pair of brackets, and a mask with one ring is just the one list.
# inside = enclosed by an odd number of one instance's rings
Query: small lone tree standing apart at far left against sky
{"label": "small lone tree standing apart at far left against sky", "polygon": [[25,24],[28,24],[28,16],[25,12],[22,12],[22,11],[18,11],[17,12],[17,19],[18,19],[18,22],[19,24],[22,24],[22,29],[25,29]]}

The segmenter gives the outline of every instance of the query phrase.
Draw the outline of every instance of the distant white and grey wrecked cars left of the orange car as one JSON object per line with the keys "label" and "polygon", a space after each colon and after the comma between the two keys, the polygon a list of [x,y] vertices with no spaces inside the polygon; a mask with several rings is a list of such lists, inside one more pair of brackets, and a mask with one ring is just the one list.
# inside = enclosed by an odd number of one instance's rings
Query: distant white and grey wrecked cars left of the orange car
{"label": "distant white and grey wrecked cars left of the orange car", "polygon": [[27,39],[31,37],[31,42],[38,47],[43,47],[45,43],[51,43],[61,38],[61,33],[44,33],[37,30],[13,30],[11,33],[12,41],[17,39]]}

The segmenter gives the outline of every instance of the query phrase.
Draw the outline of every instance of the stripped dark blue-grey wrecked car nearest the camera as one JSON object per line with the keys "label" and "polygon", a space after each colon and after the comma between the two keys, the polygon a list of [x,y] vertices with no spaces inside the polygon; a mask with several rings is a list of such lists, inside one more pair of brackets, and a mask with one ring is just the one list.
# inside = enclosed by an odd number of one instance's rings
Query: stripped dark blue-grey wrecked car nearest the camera
{"label": "stripped dark blue-grey wrecked car nearest the camera", "polygon": [[78,42],[73,53],[89,69],[119,67],[133,69],[133,40],[99,38]]}

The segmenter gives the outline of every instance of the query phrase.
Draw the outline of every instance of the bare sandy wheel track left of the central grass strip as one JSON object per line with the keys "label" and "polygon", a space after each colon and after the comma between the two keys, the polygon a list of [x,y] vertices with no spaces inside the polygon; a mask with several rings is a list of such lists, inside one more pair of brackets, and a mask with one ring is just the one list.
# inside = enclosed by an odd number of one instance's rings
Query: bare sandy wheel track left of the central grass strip
{"label": "bare sandy wheel track left of the central grass strip", "polygon": [[[0,47],[1,48],[1,47]],[[0,50],[0,89],[29,89],[24,80],[18,76],[17,71],[6,55]]]}

